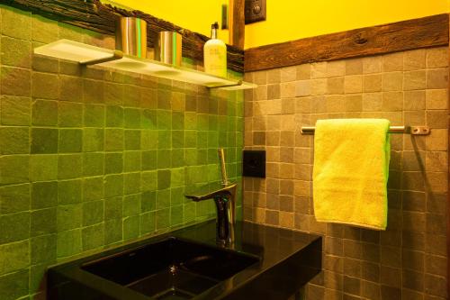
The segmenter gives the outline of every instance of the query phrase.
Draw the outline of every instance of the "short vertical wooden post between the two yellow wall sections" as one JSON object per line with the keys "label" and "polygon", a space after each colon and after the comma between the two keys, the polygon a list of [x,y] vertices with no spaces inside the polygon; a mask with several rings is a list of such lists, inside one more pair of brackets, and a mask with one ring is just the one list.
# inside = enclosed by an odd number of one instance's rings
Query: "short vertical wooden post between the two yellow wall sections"
{"label": "short vertical wooden post between the two yellow wall sections", "polygon": [[229,0],[229,43],[244,49],[245,34],[245,0]]}

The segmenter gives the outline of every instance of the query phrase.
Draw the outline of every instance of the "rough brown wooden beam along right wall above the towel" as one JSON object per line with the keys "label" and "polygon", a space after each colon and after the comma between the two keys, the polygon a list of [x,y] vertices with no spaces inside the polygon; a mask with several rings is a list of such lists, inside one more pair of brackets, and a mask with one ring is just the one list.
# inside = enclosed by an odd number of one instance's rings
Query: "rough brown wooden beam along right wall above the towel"
{"label": "rough brown wooden beam along right wall above the towel", "polygon": [[448,44],[448,14],[330,33],[245,51],[244,70],[281,68]]}

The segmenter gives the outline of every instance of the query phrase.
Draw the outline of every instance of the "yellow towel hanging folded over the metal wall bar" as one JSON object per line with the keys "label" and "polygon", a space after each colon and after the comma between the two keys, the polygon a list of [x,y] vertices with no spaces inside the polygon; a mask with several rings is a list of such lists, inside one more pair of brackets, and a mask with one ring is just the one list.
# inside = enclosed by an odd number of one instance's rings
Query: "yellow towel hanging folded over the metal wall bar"
{"label": "yellow towel hanging folded over the metal wall bar", "polygon": [[386,229],[389,126],[383,119],[316,123],[313,202],[317,221]]}

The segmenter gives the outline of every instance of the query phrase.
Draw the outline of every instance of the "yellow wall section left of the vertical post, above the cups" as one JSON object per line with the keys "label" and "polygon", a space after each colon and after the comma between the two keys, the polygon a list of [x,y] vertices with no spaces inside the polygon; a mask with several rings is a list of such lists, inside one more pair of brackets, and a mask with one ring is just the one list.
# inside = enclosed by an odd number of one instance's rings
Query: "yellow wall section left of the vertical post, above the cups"
{"label": "yellow wall section left of the vertical post, above the cups", "polygon": [[[221,5],[228,0],[103,0],[103,3],[137,9],[157,18],[175,23],[193,32],[211,35],[211,24],[221,25]],[[228,31],[219,31],[219,38],[228,42]]]}

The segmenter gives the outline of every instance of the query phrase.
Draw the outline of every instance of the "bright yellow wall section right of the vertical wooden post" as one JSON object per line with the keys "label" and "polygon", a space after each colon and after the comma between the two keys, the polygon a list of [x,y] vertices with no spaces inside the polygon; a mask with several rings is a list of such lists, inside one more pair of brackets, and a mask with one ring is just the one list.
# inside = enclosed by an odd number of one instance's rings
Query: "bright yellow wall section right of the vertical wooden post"
{"label": "bright yellow wall section right of the vertical wooden post", "polygon": [[246,49],[450,11],[450,0],[266,1],[266,22],[246,26]]}

